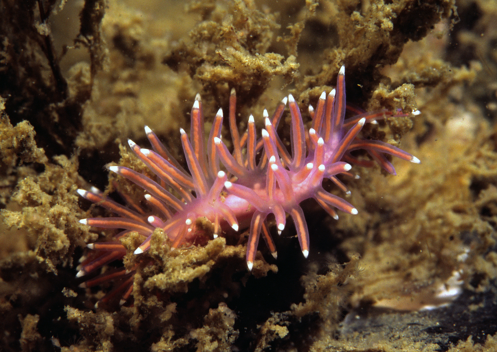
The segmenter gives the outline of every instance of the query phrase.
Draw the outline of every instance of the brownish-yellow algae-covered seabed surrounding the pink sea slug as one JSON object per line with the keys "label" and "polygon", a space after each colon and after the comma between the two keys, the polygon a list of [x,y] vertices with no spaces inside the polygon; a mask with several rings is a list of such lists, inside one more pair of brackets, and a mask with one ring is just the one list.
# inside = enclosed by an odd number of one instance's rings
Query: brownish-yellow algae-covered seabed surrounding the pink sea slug
{"label": "brownish-yellow algae-covered seabed surrounding the pink sea slug", "polygon": [[[0,351],[497,349],[496,0],[3,0],[0,13]],[[80,224],[106,212],[76,189],[141,199],[105,170],[143,169],[127,138],[147,145],[148,125],[185,164],[195,95],[208,133],[232,88],[241,131],[289,93],[309,125],[342,64],[347,104],[406,114],[363,133],[420,165],[354,167],[355,216],[303,202],[307,259],[293,226],[252,272],[246,231],[174,251],[158,234],[140,258],[129,235],[133,300],[95,308],[112,284],[82,288],[76,267],[112,233]]]}

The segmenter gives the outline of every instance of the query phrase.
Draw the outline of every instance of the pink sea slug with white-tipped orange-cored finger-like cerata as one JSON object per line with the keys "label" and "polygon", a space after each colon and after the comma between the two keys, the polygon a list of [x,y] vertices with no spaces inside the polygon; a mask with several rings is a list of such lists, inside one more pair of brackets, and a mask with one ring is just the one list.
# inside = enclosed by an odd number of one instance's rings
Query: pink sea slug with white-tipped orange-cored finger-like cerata
{"label": "pink sea slug with white-tipped orange-cored finger-like cerata", "polygon": [[[266,218],[273,214],[278,234],[285,228],[287,214],[292,218],[302,253],[309,254],[309,232],[300,203],[314,198],[333,218],[335,209],[357,214],[351,204],[326,191],[322,182],[329,178],[338,188],[350,193],[336,177],[349,173],[350,164],[369,166],[371,162],[358,160],[350,152],[365,150],[373,160],[390,174],[395,169],[384,153],[419,163],[413,155],[388,143],[361,139],[358,134],[365,123],[392,115],[389,112],[359,114],[345,119],[345,68],[338,73],[336,90],[328,96],[325,92],[318,101],[316,110],[309,112],[312,128],[304,127],[299,107],[292,95],[288,96],[291,115],[291,151],[289,152],[276,128],[283,115],[287,98],[276,107],[271,118],[264,110],[265,128],[257,138],[254,119],[248,118],[247,131],[240,136],[237,128],[235,107],[236,95],[232,90],[229,107],[229,125],[233,141],[230,152],[221,140],[223,112],[219,109],[214,117],[207,145],[204,144],[204,116],[200,96],[197,95],[191,111],[190,138],[180,129],[181,144],[188,165],[186,172],[170,155],[166,147],[149,127],[145,127],[153,150],[141,149],[129,140],[135,155],[157,176],[153,180],[136,171],[121,166],[108,169],[126,177],[147,193],[145,199],[154,214],[147,214],[136,204],[135,210],[122,206],[96,189],[78,190],[78,193],[92,202],[118,215],[115,218],[83,219],[81,223],[99,228],[122,229],[114,241],[88,244],[94,252],[79,266],[78,277],[86,275],[103,265],[122,258],[126,250],[119,238],[138,232],[145,237],[135,250],[140,254],[150,248],[152,233],[156,228],[164,230],[172,248],[184,243],[194,243],[201,231],[196,229],[196,220],[208,219],[214,226],[214,237],[221,235],[228,227],[235,231],[249,228],[247,244],[247,265],[251,270],[260,235],[274,257],[276,248],[269,233]],[[244,151],[246,148],[246,151]],[[221,170],[223,169],[223,170]],[[225,171],[224,171],[225,170]],[[84,287],[119,279],[120,284],[104,300],[122,294],[125,302],[132,291],[134,270],[116,269],[83,283]]]}

